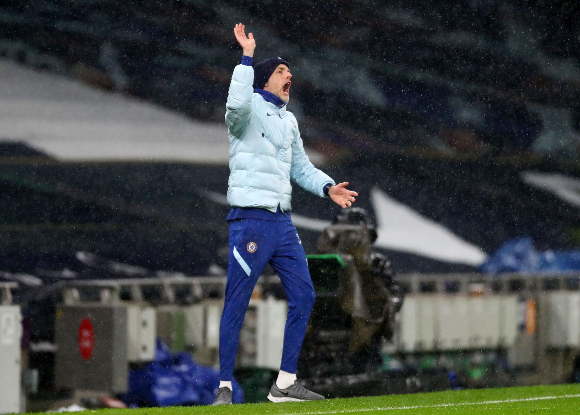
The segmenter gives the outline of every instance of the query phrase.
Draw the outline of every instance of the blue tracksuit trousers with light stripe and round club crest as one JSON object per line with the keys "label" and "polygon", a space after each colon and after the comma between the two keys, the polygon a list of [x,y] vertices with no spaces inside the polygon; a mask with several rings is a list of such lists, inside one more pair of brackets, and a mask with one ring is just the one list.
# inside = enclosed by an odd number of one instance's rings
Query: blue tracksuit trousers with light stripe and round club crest
{"label": "blue tracksuit trousers with light stripe and round club crest", "polygon": [[280,276],[288,299],[288,318],[280,369],[296,373],[298,355],[314,304],[314,287],[302,242],[292,221],[230,221],[226,299],[220,323],[220,380],[230,381],[240,329],[250,296],[266,264]]}

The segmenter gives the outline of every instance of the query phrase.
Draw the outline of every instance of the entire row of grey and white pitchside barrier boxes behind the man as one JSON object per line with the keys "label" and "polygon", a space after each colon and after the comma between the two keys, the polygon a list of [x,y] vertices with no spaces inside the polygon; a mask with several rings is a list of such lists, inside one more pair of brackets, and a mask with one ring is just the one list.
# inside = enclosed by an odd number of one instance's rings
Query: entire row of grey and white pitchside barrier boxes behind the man
{"label": "entire row of grey and white pitchside barrier boxes behind the man", "polygon": [[[580,346],[577,275],[412,274],[397,281],[407,296],[391,351],[501,349],[512,368],[530,369],[520,383],[565,380]],[[56,384],[122,392],[129,365],[153,359],[155,336],[216,365],[225,284],[225,277],[192,277],[64,285]],[[264,293],[280,289],[277,276],[260,277],[240,334],[238,366],[278,369],[287,303]]]}

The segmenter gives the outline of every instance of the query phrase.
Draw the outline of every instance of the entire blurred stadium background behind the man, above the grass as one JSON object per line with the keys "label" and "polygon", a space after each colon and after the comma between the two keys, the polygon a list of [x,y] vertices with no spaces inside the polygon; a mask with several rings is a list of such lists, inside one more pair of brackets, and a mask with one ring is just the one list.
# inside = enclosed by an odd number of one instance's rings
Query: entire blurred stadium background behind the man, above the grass
{"label": "entire blurred stadium background behind the man, above the grass", "polygon": [[[242,22],[281,56],[327,395],[580,381],[580,18],[572,1],[9,0],[0,5],[0,413],[211,403]],[[265,399],[267,268],[237,402]],[[279,327],[280,330],[272,330]],[[159,392],[159,391],[162,391]]]}

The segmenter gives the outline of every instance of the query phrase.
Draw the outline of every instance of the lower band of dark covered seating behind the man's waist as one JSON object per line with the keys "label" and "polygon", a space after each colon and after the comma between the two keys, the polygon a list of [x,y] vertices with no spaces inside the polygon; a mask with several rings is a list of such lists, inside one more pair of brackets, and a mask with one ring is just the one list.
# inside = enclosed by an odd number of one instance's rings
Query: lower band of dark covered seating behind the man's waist
{"label": "lower band of dark covered seating behind the man's waist", "polygon": [[[492,159],[359,155],[325,170],[336,180],[350,181],[361,195],[357,205],[368,210],[374,223],[370,194],[379,188],[487,253],[527,235],[539,250],[573,246],[577,207],[525,184],[520,173],[529,166]],[[228,174],[227,166],[188,163],[0,164],[7,195],[0,246],[10,252],[0,256],[0,270],[59,270],[64,266],[60,260],[48,267],[35,259],[73,257],[84,250],[152,271],[206,275],[212,263],[223,266],[220,247],[227,241],[228,207],[204,190],[223,198]],[[300,188],[293,192],[294,214],[329,221],[338,209]],[[307,252],[313,252],[318,231],[299,232]],[[475,269],[398,250],[389,256],[399,272]]]}

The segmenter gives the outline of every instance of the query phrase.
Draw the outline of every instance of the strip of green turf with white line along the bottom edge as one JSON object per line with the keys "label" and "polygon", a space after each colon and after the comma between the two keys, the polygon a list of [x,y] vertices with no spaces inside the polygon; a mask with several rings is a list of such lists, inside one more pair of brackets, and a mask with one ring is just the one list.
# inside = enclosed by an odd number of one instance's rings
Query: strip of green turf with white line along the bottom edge
{"label": "strip of green turf with white line along the bottom edge", "polygon": [[[552,397],[552,399],[535,398]],[[521,399],[528,399],[521,401]],[[509,402],[510,400],[520,400]],[[496,401],[496,402],[489,402]],[[507,402],[497,402],[507,401]],[[488,402],[488,403],[485,403]],[[463,405],[462,405],[463,404]],[[406,408],[405,408],[406,407]],[[248,403],[245,405],[104,409],[96,415],[209,415],[209,414],[580,414],[580,384],[522,388],[476,389],[431,394],[386,395],[328,399],[317,402]]]}

